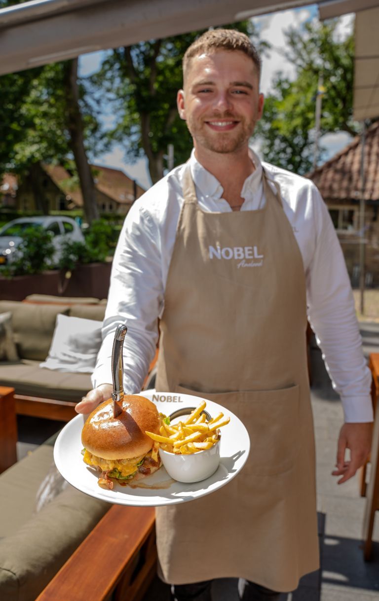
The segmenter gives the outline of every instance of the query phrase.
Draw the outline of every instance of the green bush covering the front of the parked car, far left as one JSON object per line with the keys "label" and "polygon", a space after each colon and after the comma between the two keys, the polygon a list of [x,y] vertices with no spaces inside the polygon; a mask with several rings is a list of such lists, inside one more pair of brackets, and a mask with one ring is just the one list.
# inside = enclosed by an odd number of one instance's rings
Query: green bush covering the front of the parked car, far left
{"label": "green bush covering the front of the parked car, far left", "polygon": [[41,273],[51,268],[54,252],[49,231],[40,225],[26,228],[22,233],[22,242],[14,252],[13,261],[2,273],[7,276]]}

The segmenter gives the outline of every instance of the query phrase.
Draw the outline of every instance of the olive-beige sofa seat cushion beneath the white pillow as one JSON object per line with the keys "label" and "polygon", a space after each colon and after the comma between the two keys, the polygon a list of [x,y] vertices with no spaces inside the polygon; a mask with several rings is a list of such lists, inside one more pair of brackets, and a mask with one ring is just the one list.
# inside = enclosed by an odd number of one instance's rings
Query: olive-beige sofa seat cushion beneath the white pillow
{"label": "olive-beige sofa seat cushion beneath the white pillow", "polygon": [[0,363],[0,385],[13,386],[17,394],[56,398],[78,403],[92,388],[90,374],[62,373],[39,367],[39,361]]}

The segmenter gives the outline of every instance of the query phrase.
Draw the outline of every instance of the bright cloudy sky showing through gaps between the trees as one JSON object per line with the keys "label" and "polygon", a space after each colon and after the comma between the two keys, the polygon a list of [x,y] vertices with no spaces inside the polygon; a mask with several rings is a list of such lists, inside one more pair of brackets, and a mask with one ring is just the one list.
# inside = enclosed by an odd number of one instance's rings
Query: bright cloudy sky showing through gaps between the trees
{"label": "bright cloudy sky showing through gaps between the trees", "polygon": [[[259,29],[260,38],[271,44],[270,52],[263,57],[262,61],[260,87],[263,94],[270,93],[274,75],[279,70],[289,78],[294,78],[294,66],[283,57],[283,50],[286,47],[285,31],[290,26],[301,28],[304,26],[304,23],[313,19],[318,19],[317,5],[254,17],[253,22]],[[351,32],[353,25],[353,14],[340,17],[337,36],[340,38],[346,37]],[[102,61],[102,56],[103,52],[91,52],[82,55],[79,58],[80,75],[86,76],[96,71]],[[327,134],[321,138],[321,145],[327,148],[327,157],[329,158],[344,148],[350,139],[350,136],[345,132]],[[259,153],[258,146],[254,150]],[[97,156],[96,163],[98,165],[122,169],[129,177],[135,178],[143,188],[150,186],[146,159],[137,160],[134,165],[127,163],[125,151],[121,145],[115,145],[112,151]]]}

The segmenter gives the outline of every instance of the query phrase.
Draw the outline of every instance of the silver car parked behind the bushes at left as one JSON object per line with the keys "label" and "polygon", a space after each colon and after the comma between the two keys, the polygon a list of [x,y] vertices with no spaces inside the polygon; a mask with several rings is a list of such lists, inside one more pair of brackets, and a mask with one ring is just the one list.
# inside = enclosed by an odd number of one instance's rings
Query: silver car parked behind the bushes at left
{"label": "silver car parked behind the bushes at left", "polygon": [[0,265],[11,263],[17,247],[22,242],[22,233],[26,228],[43,227],[51,232],[55,247],[53,262],[60,258],[60,250],[64,240],[84,242],[84,235],[75,219],[61,216],[20,217],[13,219],[0,229]]}

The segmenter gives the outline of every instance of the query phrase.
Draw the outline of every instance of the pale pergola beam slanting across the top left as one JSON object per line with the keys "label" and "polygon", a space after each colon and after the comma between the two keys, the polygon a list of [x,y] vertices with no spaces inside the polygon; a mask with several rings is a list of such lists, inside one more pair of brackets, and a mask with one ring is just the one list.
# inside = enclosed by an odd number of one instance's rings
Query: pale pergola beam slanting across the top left
{"label": "pale pergola beam slanting across the top left", "polygon": [[310,0],[32,0],[0,10],[0,75]]}

